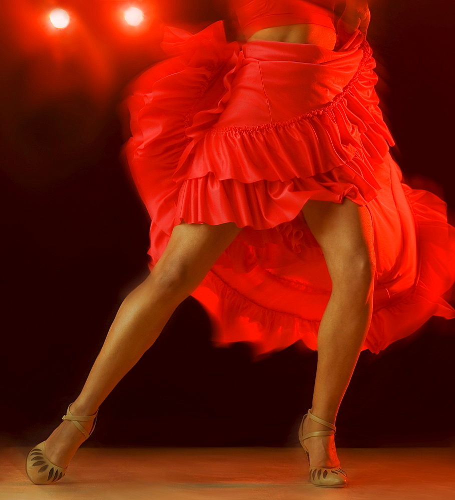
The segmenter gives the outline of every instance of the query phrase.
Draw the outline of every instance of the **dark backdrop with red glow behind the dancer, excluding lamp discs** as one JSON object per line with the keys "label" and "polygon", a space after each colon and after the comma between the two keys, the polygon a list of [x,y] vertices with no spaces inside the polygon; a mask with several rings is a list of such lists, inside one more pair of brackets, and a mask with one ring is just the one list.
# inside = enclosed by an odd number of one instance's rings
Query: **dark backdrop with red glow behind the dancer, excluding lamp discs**
{"label": "dark backdrop with red glow behind the dancer, excluding lamp discs", "polygon": [[[147,272],[149,220],[119,156],[122,89],[161,57],[159,19],[196,30],[225,14],[221,1],[139,1],[159,17],[130,29],[118,14],[125,3],[2,7],[4,443],[32,445],[59,424]],[[53,6],[71,12],[66,30],[47,26]],[[395,158],[412,187],[446,200],[452,223],[453,10],[444,0],[375,0],[368,33]],[[87,445],[293,445],[317,353],[291,346],[252,364],[246,345],[215,349],[209,338],[204,311],[187,299],[103,403]],[[338,446],[453,443],[454,351],[455,321],[437,317],[378,355],[363,351]]]}

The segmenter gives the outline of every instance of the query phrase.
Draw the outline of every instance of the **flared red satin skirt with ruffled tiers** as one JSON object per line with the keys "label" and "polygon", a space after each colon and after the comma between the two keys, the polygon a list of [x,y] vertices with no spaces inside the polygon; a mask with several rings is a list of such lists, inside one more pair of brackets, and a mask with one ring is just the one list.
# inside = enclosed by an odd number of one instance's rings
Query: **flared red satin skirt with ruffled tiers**
{"label": "flared red satin skirt with ruffled tiers", "polygon": [[149,267],[172,229],[235,222],[242,231],[192,293],[217,346],[250,342],[255,359],[301,340],[317,349],[331,293],[308,199],[368,207],[377,270],[363,349],[378,353],[430,316],[455,317],[446,204],[401,182],[393,138],[360,33],[335,50],[301,43],[227,43],[223,22],[192,35],[167,28],[171,56],[129,87],[125,155],[151,217]]}

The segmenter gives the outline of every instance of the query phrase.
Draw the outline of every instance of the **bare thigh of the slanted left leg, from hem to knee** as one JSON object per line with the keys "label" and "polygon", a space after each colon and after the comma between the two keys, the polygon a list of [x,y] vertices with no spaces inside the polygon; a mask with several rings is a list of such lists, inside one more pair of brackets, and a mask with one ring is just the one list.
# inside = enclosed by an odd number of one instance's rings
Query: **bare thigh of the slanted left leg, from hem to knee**
{"label": "bare thigh of the slanted left leg, from hem to knee", "polygon": [[174,227],[155,269],[187,271],[195,281],[201,280],[241,230],[234,222],[210,225],[183,221]]}

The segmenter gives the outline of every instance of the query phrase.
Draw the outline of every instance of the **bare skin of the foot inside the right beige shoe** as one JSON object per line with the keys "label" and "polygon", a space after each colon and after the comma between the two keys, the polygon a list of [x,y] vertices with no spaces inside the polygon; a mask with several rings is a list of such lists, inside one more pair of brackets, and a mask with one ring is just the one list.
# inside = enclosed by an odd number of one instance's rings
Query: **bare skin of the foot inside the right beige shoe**
{"label": "bare skin of the foot inside the right beige shoe", "polygon": [[[315,422],[309,416],[306,416],[303,421],[302,435],[315,430],[330,430],[330,427],[327,427],[322,423]],[[303,442],[308,448],[311,466],[327,468],[340,466],[340,461],[336,455],[334,435],[311,436],[306,438]]]}

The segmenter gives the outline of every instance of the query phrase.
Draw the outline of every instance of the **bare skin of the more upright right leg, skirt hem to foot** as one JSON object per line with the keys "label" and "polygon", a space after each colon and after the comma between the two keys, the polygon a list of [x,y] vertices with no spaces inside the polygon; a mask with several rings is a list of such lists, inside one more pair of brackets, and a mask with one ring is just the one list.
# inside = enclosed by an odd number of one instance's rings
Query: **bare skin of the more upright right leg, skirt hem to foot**
{"label": "bare skin of the more upright right leg, skirt hem to foot", "polygon": [[[318,241],[332,280],[332,293],[317,337],[317,370],[311,412],[335,423],[372,313],[375,253],[371,217],[365,206],[344,198],[343,203],[309,200],[305,220]],[[305,418],[303,433],[329,430]],[[334,436],[305,439],[310,464],[340,465]]]}

